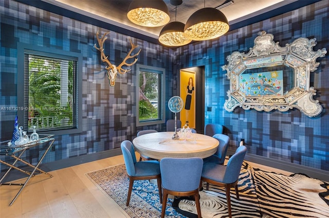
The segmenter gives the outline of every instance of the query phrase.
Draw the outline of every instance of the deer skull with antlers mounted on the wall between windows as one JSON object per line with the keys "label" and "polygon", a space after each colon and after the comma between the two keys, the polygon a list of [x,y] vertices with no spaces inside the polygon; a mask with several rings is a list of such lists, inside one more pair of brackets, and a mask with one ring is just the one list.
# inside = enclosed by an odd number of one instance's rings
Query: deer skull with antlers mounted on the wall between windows
{"label": "deer skull with antlers mounted on the wall between windows", "polygon": [[105,69],[107,70],[107,76],[108,76],[108,81],[109,81],[109,85],[111,86],[114,86],[115,85],[115,80],[117,78],[117,75],[118,73],[120,74],[125,74],[126,72],[129,72],[131,71],[130,70],[127,70],[127,69],[122,69],[123,66],[126,66],[126,67],[129,67],[129,66],[132,66],[134,63],[136,63],[136,61],[138,60],[138,58],[135,58],[135,60],[132,62],[132,63],[127,63],[126,60],[129,59],[129,58],[133,58],[133,57],[136,57],[140,50],[134,54],[134,55],[131,55],[132,52],[138,47],[137,45],[134,45],[132,40],[129,38],[130,40],[130,44],[132,46],[131,50],[128,52],[127,56],[123,59],[123,61],[119,64],[118,67],[116,67],[114,64],[111,64],[111,62],[109,62],[108,60],[108,56],[106,56],[104,54],[104,48],[103,48],[103,44],[104,44],[104,41],[107,39],[106,35],[109,34],[109,32],[107,33],[104,33],[104,35],[102,37],[98,37],[99,33],[97,31],[96,33],[96,37],[97,37],[97,41],[98,41],[98,45],[99,45],[99,48],[97,48],[96,44],[94,45],[94,47],[100,51],[101,53],[101,60],[105,63],[107,63],[107,67],[105,67]]}

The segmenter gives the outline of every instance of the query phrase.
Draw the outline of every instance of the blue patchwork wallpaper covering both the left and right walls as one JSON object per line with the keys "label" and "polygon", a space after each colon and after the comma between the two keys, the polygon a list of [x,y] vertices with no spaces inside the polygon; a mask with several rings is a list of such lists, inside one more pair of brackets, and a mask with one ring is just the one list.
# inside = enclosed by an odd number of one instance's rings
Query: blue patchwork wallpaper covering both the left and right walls
{"label": "blue patchwork wallpaper covering both the left and right walls", "polygon": [[[248,145],[248,154],[273,160],[329,171],[329,76],[328,54],[318,58],[318,70],[311,73],[310,85],[317,90],[323,112],[314,118],[298,110],[285,113],[272,111],[224,110],[228,98],[229,80],[222,66],[233,51],[248,52],[259,31],[274,35],[281,46],[298,37],[316,38],[314,48],[329,50],[329,4],[327,0],[272,17],[240,29],[229,31],[219,39],[195,42],[178,49],[169,49],[132,38],[142,48],[140,64],[166,69],[166,100],[177,93],[176,78],[180,68],[205,66],[205,124],[217,122],[225,126],[230,136],[230,149],[235,149],[241,138]],[[56,48],[83,54],[82,122],[83,132],[56,136],[55,150],[48,152],[43,163],[93,154],[117,148],[121,141],[132,140],[138,130],[135,125],[136,72],[118,75],[116,85],[110,87],[104,64],[94,48],[96,32],[108,30],[60,16],[45,10],[17,3],[0,2],[0,107],[17,105],[17,42]],[[110,31],[105,44],[111,62],[124,58],[130,49],[129,36]],[[16,112],[0,111],[1,141],[12,133]],[[169,110],[166,118],[172,117]],[[164,125],[144,128],[164,130]],[[38,158],[35,158],[38,159]],[[30,161],[33,163],[35,159]],[[3,166],[2,166],[3,167]]]}

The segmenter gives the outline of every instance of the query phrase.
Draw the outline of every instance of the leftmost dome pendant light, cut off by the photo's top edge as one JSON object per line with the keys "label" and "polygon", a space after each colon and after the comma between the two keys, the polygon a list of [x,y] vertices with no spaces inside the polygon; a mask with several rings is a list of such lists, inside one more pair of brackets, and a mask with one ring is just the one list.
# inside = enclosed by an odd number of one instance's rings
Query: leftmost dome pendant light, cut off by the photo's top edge
{"label": "leftmost dome pendant light, cut off by the photo's top edge", "polygon": [[133,0],[127,17],[134,24],[144,27],[160,27],[169,23],[169,10],[162,0]]}

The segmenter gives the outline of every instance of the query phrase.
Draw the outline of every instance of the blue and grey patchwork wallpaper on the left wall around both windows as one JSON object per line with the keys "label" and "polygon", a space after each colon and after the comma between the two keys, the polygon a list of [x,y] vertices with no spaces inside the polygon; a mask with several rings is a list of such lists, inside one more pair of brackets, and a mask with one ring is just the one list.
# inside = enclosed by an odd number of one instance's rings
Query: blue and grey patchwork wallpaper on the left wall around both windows
{"label": "blue and grey patchwork wallpaper on the left wall around both windows", "polygon": [[[123,140],[132,140],[143,127],[136,127],[135,81],[136,64],[166,69],[166,100],[172,96],[172,62],[166,47],[131,38],[142,48],[132,71],[119,74],[114,87],[109,86],[105,65],[94,48],[96,33],[110,32],[105,42],[105,54],[118,65],[131,49],[129,36],[99,28],[71,18],[50,13],[11,0],[0,2],[0,108],[17,106],[17,42],[35,46],[77,52],[83,55],[82,129],[81,134],[56,136],[54,151],[49,151],[43,163],[68,159],[120,147]],[[118,63],[117,63],[118,62]],[[11,139],[15,111],[0,111],[0,141]],[[166,118],[172,113],[166,112]],[[20,118],[19,118],[20,119]],[[163,130],[165,124],[147,126]],[[38,154],[38,149],[33,152]],[[38,160],[38,155],[31,158]],[[2,157],[3,158],[3,157]],[[3,166],[1,166],[3,167]]]}

